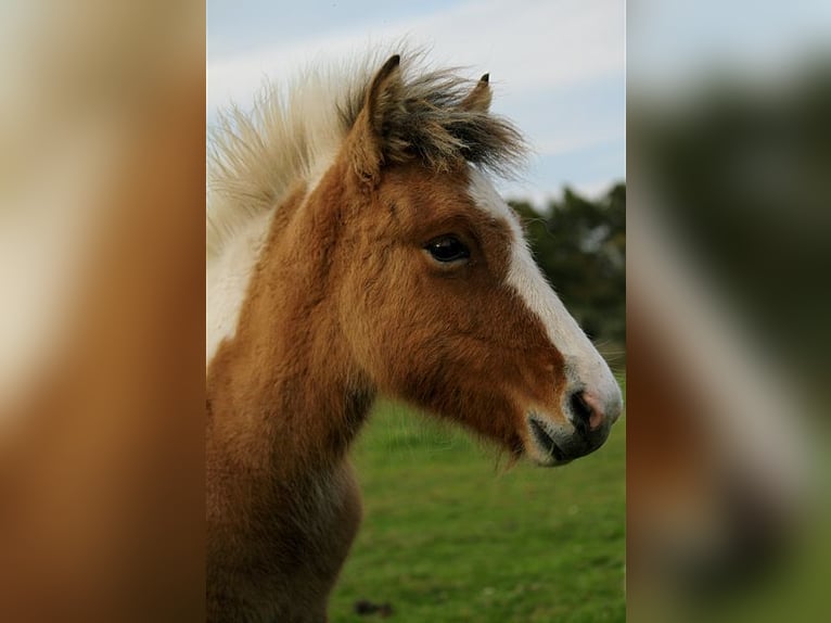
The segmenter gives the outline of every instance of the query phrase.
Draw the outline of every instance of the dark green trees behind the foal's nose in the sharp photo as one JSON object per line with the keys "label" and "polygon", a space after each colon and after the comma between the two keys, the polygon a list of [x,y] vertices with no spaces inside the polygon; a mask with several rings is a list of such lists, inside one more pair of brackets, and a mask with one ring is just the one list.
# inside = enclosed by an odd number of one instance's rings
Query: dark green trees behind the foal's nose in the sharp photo
{"label": "dark green trees behind the foal's nose in the sharp photo", "polygon": [[512,201],[535,259],[586,333],[619,354],[626,343],[626,186],[597,201],[566,188],[542,212]]}

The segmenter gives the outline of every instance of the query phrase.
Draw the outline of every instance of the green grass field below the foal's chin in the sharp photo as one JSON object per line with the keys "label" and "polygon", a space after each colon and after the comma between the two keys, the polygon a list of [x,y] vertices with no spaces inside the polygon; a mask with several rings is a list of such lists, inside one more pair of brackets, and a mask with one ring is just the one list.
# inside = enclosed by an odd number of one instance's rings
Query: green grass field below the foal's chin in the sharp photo
{"label": "green grass field below the foal's chin in the sharp photo", "polygon": [[506,470],[463,432],[380,404],[353,450],[365,519],[330,621],[382,620],[360,600],[407,623],[625,621],[624,423],[564,468]]}

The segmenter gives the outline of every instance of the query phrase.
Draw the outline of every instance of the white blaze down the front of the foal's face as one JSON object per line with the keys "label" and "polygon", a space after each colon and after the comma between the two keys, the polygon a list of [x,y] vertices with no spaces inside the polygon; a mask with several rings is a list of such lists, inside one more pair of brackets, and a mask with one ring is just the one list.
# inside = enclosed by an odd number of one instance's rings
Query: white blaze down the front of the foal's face
{"label": "white blaze down the front of the foal's face", "polygon": [[516,215],[478,170],[470,169],[470,196],[476,206],[494,219],[508,225],[512,236],[511,265],[507,282],[546,328],[551,344],[563,355],[574,390],[585,389],[604,405],[619,410],[621,390],[603,357],[595,348],[546,281],[525,242]]}

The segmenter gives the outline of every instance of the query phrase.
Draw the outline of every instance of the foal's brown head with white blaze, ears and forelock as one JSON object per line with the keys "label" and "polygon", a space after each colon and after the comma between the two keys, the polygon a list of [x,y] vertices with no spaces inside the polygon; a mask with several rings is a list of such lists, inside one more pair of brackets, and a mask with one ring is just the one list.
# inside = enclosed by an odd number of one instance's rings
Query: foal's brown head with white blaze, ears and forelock
{"label": "foal's brown head with white blaze, ears and forelock", "polygon": [[621,392],[483,173],[520,154],[519,135],[489,114],[487,76],[463,85],[408,82],[394,56],[351,112],[318,187],[347,178],[338,322],[380,391],[561,465],[605,441]]}

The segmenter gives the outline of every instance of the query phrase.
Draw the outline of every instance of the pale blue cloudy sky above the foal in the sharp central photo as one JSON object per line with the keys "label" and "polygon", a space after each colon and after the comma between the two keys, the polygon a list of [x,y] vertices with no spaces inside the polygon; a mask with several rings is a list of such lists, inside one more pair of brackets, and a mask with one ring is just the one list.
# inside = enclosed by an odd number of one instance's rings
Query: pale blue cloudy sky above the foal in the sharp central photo
{"label": "pale blue cloudy sky above the foal in the sharp central photo", "polygon": [[626,175],[623,0],[208,0],[208,123],[243,109],[267,77],[361,56],[406,39],[438,66],[490,74],[495,113],[512,119],[533,155],[509,198],[541,205],[564,186],[602,194]]}

